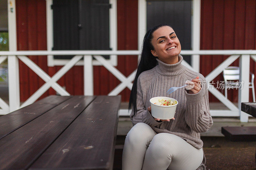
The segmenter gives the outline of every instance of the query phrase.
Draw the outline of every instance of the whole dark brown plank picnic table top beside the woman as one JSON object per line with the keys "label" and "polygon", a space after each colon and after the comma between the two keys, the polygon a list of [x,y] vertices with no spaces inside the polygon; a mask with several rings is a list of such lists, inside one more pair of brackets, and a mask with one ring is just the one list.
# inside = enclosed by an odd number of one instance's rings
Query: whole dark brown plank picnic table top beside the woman
{"label": "whole dark brown plank picnic table top beside the woman", "polygon": [[120,96],[48,96],[0,117],[0,169],[112,169]]}

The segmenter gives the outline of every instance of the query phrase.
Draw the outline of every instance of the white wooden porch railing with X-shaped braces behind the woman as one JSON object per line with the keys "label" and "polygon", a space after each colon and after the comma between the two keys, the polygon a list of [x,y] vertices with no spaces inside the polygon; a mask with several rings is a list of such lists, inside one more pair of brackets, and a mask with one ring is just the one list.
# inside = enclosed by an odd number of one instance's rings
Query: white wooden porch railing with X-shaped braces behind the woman
{"label": "white wooden porch railing with X-shaped braces behind the woman", "polygon": [[[70,61],[63,66],[52,77],[46,74],[38,65],[31,61],[26,55],[75,55]],[[68,51],[2,51],[0,52],[0,64],[8,58],[8,77],[9,77],[9,105],[0,98],[0,114],[4,115],[12,112],[21,107],[25,107],[35,102],[44,92],[52,87],[60,95],[70,95],[65,89],[63,89],[57,81],[72,68],[81,58],[84,58],[84,95],[93,95],[93,66],[92,56],[101,63],[108,71],[110,71],[121,83],[116,86],[108,95],[117,95],[124,88],[128,87],[132,89],[132,81],[134,80],[136,70],[132,72],[128,77],[125,77],[119,70],[112,66],[101,55],[140,55],[138,50],[118,50],[118,51],[83,51],[83,50],[68,50]],[[217,68],[212,70],[205,78],[207,82],[211,82],[217,77],[224,68],[228,67],[237,58],[239,58],[240,66],[240,82],[243,83],[243,88],[238,90],[238,107],[236,107],[230,100],[219,92],[212,84],[209,84],[209,92],[211,92],[216,98],[218,98],[225,106],[230,110],[210,110],[212,116],[240,116],[241,122],[248,121],[248,114],[241,111],[241,102],[249,101],[249,72],[250,57],[256,62],[256,50],[182,50],[181,55],[230,55],[224,62],[222,62]],[[193,58],[193,57],[192,57]],[[18,60],[25,63],[30,69],[32,69],[40,78],[45,81],[45,84],[41,86],[28,100],[20,105],[20,88],[19,88],[19,64]],[[47,63],[45,63],[47,64]],[[195,70],[185,61],[182,63],[188,68]],[[199,64],[199,63],[198,63]],[[242,95],[243,94],[243,95]],[[120,115],[129,115],[127,109],[120,109]]]}

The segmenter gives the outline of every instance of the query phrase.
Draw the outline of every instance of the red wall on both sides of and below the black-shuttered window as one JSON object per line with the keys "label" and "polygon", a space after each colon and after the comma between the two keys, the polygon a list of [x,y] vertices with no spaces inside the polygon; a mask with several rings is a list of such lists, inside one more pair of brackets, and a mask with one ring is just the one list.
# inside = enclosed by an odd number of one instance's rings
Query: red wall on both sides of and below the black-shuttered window
{"label": "red wall on both sides of and below the black-shuttered window", "polygon": [[[45,0],[16,0],[17,19],[17,49],[18,50],[46,50],[46,9]],[[138,49],[138,1],[117,1],[117,30],[118,50]],[[46,56],[29,56],[47,74],[53,76],[62,66],[47,67]],[[117,69],[126,77],[136,69],[137,56],[118,56]],[[103,66],[94,66],[94,94],[107,95],[119,83]],[[83,66],[71,68],[58,83],[65,86],[71,95],[83,95]],[[20,101],[25,101],[44,84],[31,69],[20,61]],[[41,97],[56,94],[50,88]],[[120,93],[123,101],[128,101],[130,90],[124,89]]]}

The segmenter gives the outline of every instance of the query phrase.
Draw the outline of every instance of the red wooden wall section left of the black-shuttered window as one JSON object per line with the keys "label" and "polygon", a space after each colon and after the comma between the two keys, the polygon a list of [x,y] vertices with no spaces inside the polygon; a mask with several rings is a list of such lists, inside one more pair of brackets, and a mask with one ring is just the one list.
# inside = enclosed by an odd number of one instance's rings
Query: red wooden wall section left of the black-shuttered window
{"label": "red wooden wall section left of the black-shuttered window", "polygon": [[[44,8],[42,8],[44,6]],[[17,49],[46,50],[45,1],[16,0]],[[46,73],[46,56],[28,56]],[[24,101],[42,86],[44,81],[20,61],[20,100]],[[43,97],[49,95],[44,94]]]}

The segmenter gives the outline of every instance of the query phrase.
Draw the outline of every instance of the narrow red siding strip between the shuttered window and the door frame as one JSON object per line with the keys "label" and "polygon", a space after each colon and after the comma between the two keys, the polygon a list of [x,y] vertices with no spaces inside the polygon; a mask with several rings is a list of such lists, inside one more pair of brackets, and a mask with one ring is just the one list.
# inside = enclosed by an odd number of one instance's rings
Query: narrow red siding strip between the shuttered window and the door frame
{"label": "narrow red siding strip between the shuttered window and the door frame", "polygon": [[[118,50],[138,49],[138,1],[117,1],[117,37]],[[129,76],[137,68],[137,56],[118,56],[117,69],[124,76]],[[121,93],[122,100],[128,101],[130,90],[125,88]]]}

